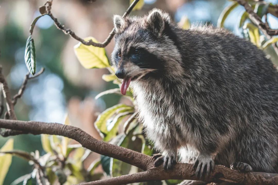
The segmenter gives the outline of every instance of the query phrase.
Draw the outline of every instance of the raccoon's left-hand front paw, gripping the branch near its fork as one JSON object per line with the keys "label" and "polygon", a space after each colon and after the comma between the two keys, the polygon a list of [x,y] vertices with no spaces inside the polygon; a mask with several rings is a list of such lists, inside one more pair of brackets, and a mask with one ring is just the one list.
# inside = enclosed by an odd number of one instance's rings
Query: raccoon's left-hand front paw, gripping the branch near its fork
{"label": "raccoon's left-hand front paw, gripping the branch near its fork", "polygon": [[154,154],[155,158],[155,167],[160,166],[163,163],[165,170],[172,169],[173,166],[177,163],[176,156],[174,155],[164,155],[164,154]]}

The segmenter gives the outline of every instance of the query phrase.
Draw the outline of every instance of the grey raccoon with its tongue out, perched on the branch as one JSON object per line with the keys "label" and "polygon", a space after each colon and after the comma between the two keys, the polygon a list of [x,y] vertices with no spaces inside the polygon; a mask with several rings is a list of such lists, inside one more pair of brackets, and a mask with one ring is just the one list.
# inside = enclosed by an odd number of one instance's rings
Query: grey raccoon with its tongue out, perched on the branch
{"label": "grey raccoon with its tongue out, perched on the branch", "polygon": [[198,177],[215,164],[276,172],[278,75],[262,50],[225,29],[181,29],[159,9],[113,22],[111,61],[162,152],[155,166],[171,169],[182,148]]}

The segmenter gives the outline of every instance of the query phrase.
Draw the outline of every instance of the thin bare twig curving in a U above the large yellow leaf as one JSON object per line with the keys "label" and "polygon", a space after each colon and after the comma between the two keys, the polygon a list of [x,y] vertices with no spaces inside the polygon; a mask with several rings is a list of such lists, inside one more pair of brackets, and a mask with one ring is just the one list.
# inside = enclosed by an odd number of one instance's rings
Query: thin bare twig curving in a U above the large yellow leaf
{"label": "thin bare twig curving in a U above the large yellow leaf", "polygon": [[[128,7],[128,9],[126,10],[126,12],[123,14],[123,17],[126,17],[133,9],[133,7],[137,4],[139,0],[135,0],[133,1],[130,6]],[[83,39],[81,39],[80,37],[78,37],[75,32],[73,32],[71,29],[66,28],[64,25],[62,25],[57,18],[55,18],[53,16],[53,14],[51,13],[51,5],[52,3],[50,3],[49,1],[46,3],[46,9],[48,11],[48,15],[51,17],[51,19],[54,21],[54,24],[56,25],[56,27],[60,30],[62,30],[65,34],[69,34],[72,38],[74,38],[75,40],[80,41],[82,44],[84,45],[93,45],[95,47],[106,47],[112,40],[112,38],[114,37],[115,34],[115,28],[112,29],[112,31],[109,33],[108,37],[105,39],[104,42],[102,43],[96,43],[93,42],[93,40],[89,40],[89,41],[85,41]]]}

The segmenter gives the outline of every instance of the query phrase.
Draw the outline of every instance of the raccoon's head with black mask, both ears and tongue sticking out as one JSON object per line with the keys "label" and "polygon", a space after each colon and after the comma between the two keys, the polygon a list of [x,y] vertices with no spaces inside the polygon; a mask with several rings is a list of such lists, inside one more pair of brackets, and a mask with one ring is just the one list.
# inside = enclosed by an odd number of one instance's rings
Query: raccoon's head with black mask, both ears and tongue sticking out
{"label": "raccoon's head with black mask, both ears and tongue sticking out", "polygon": [[153,9],[144,17],[115,15],[115,48],[111,54],[116,76],[123,79],[125,94],[131,81],[171,76],[180,53],[169,14]]}

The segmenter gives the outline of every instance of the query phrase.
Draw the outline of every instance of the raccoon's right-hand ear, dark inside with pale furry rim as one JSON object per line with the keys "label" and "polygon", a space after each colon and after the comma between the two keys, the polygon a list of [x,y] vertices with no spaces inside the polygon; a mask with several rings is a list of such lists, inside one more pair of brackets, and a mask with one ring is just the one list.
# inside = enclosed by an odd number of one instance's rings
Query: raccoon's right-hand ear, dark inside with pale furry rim
{"label": "raccoon's right-hand ear, dark inside with pale furry rim", "polygon": [[150,28],[158,33],[158,35],[161,35],[165,28],[165,22],[170,22],[170,16],[162,10],[155,8],[149,13],[147,20]]}

